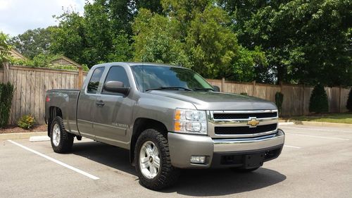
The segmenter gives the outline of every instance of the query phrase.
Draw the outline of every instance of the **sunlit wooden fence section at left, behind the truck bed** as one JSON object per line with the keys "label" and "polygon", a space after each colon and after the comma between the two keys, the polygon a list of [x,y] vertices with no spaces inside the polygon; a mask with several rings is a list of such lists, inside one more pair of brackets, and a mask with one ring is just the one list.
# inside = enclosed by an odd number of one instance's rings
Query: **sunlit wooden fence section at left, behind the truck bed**
{"label": "sunlit wooden fence section at left, behind the truck bed", "polygon": [[15,87],[9,122],[16,123],[21,116],[32,114],[37,123],[44,124],[46,90],[77,89],[78,79],[78,71],[23,66],[9,66],[7,71],[0,69],[0,82],[11,82]]}

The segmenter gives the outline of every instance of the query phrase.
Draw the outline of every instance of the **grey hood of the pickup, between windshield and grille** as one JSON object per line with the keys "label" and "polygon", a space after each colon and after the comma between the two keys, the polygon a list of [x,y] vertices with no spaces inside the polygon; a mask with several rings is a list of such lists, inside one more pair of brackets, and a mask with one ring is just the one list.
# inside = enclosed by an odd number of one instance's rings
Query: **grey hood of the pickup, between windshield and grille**
{"label": "grey hood of the pickup, between windshield and grille", "polygon": [[[150,94],[155,94],[173,99],[188,101],[199,110],[271,110],[277,109],[271,101],[256,97],[249,97],[240,94],[230,94],[222,92],[188,92],[152,90]],[[182,108],[182,106],[180,106]]]}

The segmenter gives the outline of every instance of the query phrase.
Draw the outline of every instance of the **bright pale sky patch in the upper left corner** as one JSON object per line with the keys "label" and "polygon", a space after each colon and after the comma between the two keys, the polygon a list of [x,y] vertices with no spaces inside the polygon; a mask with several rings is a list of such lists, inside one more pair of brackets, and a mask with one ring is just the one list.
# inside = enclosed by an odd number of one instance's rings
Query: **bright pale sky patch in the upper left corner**
{"label": "bright pale sky patch in the upper left corner", "polygon": [[26,30],[57,25],[54,15],[70,8],[83,13],[85,0],[0,0],[0,32],[11,37]]}

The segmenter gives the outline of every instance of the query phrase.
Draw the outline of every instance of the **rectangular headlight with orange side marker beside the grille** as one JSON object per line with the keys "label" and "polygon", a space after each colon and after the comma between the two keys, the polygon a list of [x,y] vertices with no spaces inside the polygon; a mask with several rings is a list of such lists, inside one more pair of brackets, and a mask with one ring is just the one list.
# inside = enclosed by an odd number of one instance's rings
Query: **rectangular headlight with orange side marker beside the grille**
{"label": "rectangular headlight with orange side marker beside the grille", "polygon": [[174,130],[175,132],[187,132],[201,135],[208,134],[206,111],[176,109]]}

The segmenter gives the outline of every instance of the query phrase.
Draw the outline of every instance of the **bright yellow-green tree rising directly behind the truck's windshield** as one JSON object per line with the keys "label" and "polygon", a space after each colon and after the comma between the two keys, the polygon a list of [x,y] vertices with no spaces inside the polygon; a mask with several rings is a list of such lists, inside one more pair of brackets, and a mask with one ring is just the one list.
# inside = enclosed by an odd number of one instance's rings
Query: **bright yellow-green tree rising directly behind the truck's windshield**
{"label": "bright yellow-green tree rising directly behind the truck's windshield", "polygon": [[191,20],[186,37],[187,52],[192,68],[206,78],[227,75],[238,54],[237,37],[226,26],[228,23],[227,13],[212,5]]}

